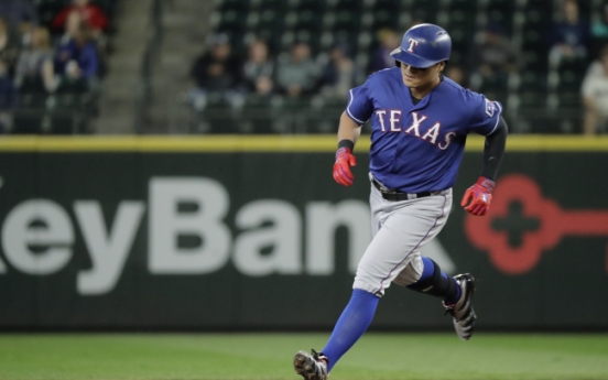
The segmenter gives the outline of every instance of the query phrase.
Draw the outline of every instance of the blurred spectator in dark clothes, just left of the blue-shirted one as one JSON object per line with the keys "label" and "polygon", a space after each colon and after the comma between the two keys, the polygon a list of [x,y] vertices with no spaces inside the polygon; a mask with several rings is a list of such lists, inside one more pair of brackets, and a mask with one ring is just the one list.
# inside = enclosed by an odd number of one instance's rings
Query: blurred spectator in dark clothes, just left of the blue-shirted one
{"label": "blurred spectator in dark clothes, just left of the blue-shirted one", "polygon": [[52,93],[55,89],[53,48],[51,34],[44,26],[35,26],[30,32],[30,45],[19,55],[15,70],[15,85],[36,91]]}

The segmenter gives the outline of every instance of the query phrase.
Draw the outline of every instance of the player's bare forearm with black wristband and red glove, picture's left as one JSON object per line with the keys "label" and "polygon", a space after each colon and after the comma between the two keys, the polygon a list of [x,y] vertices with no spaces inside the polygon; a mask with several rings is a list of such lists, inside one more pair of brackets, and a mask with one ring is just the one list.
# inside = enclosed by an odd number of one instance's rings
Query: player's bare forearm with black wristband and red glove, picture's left
{"label": "player's bare forearm with black wristband and red glove, picture's left", "polygon": [[336,162],[334,163],[334,180],[343,185],[352,185],[355,176],[350,166],[357,165],[357,159],[352,155],[352,149],[361,135],[361,126],[356,123],[346,111],[340,116],[338,127],[338,150],[336,151]]}

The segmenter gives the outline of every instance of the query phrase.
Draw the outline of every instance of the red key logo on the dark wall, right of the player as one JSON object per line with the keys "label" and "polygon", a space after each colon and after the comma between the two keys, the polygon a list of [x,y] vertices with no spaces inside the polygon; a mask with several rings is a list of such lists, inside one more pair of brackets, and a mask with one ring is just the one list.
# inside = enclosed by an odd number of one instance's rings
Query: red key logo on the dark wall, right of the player
{"label": "red key logo on the dark wall, right of the player", "polygon": [[504,273],[532,270],[543,251],[565,236],[608,236],[608,211],[563,210],[544,198],[539,185],[524,175],[501,178],[492,195],[486,217],[466,215],[465,232]]}

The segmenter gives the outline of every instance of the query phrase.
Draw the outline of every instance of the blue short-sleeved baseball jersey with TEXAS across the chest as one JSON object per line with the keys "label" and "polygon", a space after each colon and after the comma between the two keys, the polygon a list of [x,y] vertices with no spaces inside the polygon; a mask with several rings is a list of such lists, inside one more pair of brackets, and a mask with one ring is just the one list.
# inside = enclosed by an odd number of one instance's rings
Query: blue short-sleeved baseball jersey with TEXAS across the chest
{"label": "blue short-sleeved baseball jersey with TEXAS across the chest", "polygon": [[416,105],[399,67],[370,75],[349,91],[346,113],[371,119],[370,171],[403,193],[434,192],[456,182],[467,134],[491,134],[502,107],[444,77]]}

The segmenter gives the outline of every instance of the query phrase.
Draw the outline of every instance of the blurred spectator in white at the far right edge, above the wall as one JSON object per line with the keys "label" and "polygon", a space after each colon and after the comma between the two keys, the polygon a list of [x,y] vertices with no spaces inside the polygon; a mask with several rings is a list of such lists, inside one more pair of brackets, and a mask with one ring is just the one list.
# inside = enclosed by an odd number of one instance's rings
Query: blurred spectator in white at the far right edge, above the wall
{"label": "blurred spectator in white at the far right edge, above the wall", "polygon": [[587,72],[580,89],[585,106],[583,133],[587,135],[598,130],[605,132],[608,122],[608,45],[601,50],[598,61],[601,75]]}

